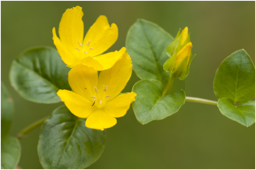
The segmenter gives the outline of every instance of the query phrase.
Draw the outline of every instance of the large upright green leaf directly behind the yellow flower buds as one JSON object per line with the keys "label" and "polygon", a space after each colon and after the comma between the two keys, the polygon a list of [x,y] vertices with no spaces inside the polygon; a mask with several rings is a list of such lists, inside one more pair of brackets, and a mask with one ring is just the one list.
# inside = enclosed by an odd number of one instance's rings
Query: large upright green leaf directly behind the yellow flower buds
{"label": "large upright green leaf directly behind the yellow flower buds", "polygon": [[163,28],[147,20],[138,19],[126,38],[127,52],[132,58],[132,67],[140,79],[155,79],[166,84],[169,73],[163,64],[169,58],[166,48],[173,37]]}

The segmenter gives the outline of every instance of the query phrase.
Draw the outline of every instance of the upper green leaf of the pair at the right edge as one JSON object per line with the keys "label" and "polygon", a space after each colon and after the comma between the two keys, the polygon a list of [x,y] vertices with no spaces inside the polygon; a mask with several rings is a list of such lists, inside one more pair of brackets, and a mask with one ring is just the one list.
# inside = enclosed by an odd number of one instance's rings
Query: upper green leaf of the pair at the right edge
{"label": "upper green leaf of the pair at the right edge", "polygon": [[216,71],[213,90],[217,98],[230,98],[233,103],[248,102],[255,96],[255,67],[245,50],[228,56]]}

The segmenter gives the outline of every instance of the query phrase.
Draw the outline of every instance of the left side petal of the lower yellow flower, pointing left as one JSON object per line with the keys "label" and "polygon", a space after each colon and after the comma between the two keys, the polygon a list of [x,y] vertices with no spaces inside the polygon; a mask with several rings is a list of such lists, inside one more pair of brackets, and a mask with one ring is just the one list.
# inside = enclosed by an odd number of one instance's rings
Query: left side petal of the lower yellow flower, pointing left
{"label": "left side petal of the lower yellow flower, pointing left", "polygon": [[95,107],[91,106],[92,102],[69,90],[59,90],[57,95],[70,112],[79,118],[86,118],[95,110]]}

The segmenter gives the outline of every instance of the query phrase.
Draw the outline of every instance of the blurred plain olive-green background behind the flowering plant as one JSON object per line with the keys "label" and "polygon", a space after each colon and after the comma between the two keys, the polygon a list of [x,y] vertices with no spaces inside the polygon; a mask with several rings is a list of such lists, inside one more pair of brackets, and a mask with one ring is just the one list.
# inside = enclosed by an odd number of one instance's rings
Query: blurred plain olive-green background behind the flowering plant
{"label": "blurred plain olive-green background behind the flowering plant", "polygon": [[[119,29],[109,51],[125,46],[126,33],[137,18],[155,22],[175,36],[189,27],[193,54],[185,80],[187,96],[217,100],[215,71],[224,58],[244,48],[255,63],[255,2],[1,2],[1,79],[15,103],[10,131],[16,135],[63,103],[35,104],[10,86],[12,60],[32,46],[54,46],[52,28],[58,28],[67,8],[83,8],[85,32],[100,15]],[[124,92],[139,78],[132,74]],[[88,168],[231,168],[255,169],[255,124],[246,128],[219,112],[216,106],[186,102],[164,120],[142,126],[132,108],[107,130],[105,150]],[[21,168],[42,168],[37,154],[39,129],[21,139]]]}

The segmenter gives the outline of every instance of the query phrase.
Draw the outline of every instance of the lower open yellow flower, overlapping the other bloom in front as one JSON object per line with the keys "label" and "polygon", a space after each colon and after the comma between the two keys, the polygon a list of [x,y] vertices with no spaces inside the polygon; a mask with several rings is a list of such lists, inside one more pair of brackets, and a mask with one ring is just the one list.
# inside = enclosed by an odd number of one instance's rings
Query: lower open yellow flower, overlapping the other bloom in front
{"label": "lower open yellow flower, overlapping the other bloom in front", "polygon": [[[132,61],[127,52],[108,70],[100,72],[79,64],[69,71],[69,90],[57,95],[77,117],[87,118],[85,126],[104,130],[116,124],[135,101],[136,93],[120,94],[132,75]],[[120,95],[119,95],[120,94]]]}

